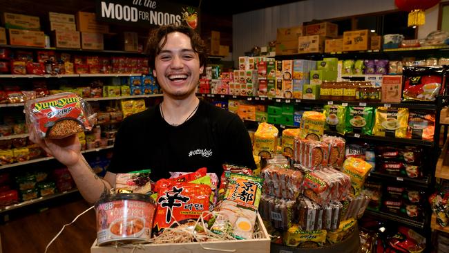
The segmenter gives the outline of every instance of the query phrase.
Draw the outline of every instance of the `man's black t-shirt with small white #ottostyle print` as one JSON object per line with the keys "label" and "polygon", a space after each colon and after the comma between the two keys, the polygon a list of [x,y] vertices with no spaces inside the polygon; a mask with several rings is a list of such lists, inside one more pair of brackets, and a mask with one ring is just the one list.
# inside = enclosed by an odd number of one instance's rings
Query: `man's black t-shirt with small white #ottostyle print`
{"label": "man's black t-shirt with small white #ottostyle print", "polygon": [[222,174],[222,164],[256,169],[249,134],[237,115],[207,102],[180,126],[162,118],[159,106],[125,118],[117,132],[108,171],[151,169],[151,179],[169,178],[169,171],[193,172],[207,167]]}

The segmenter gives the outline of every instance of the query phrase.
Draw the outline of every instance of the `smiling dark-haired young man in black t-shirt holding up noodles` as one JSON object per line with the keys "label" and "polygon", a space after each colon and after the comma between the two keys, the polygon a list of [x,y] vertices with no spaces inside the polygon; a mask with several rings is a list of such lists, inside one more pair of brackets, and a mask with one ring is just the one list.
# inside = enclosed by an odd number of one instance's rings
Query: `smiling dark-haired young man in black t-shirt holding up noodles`
{"label": "smiling dark-haired young man in black t-shirt holding up noodles", "polygon": [[122,122],[113,158],[104,179],[98,178],[80,152],[77,135],[63,140],[30,140],[66,165],[82,196],[90,203],[107,194],[115,175],[151,169],[151,179],[169,178],[170,171],[222,173],[227,162],[256,169],[251,140],[237,115],[195,96],[207,59],[203,41],[185,26],[162,26],[152,32],[149,57],[164,101]]}

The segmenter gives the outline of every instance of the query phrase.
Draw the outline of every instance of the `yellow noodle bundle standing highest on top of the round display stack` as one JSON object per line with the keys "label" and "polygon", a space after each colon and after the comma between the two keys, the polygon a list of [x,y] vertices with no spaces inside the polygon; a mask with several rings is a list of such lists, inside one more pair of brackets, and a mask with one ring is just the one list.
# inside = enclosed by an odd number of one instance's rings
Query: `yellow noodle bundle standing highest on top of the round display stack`
{"label": "yellow noodle bundle standing highest on top of the round display stack", "polygon": [[316,111],[305,111],[301,118],[299,137],[307,140],[321,140],[326,117]]}

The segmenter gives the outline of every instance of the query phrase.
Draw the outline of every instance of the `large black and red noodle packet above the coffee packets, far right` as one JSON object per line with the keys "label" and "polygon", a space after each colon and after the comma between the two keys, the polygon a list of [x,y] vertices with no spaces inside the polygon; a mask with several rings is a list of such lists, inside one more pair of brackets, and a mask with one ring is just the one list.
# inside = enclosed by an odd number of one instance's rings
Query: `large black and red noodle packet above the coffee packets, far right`
{"label": "large black and red noodle packet above the coffee packets, far right", "polygon": [[403,99],[434,101],[435,96],[443,93],[443,67],[406,66]]}

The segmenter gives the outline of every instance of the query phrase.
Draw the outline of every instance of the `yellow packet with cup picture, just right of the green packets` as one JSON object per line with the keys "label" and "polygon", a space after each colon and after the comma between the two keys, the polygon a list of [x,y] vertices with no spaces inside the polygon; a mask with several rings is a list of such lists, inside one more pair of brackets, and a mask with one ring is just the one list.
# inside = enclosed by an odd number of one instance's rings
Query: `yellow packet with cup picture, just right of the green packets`
{"label": "yellow packet with cup picture, just right of the green packets", "polygon": [[408,125],[408,109],[379,107],[376,110],[373,135],[405,138]]}

